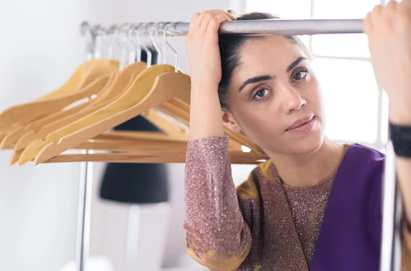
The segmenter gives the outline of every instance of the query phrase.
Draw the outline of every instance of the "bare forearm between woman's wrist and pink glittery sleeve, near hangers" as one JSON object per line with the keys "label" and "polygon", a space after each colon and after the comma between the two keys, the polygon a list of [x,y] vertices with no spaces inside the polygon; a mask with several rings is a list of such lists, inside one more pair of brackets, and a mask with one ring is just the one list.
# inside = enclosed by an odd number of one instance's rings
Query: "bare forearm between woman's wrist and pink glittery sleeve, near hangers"
{"label": "bare forearm between woman's wrist and pink glittery sleeve, near hangers", "polygon": [[192,82],[190,101],[190,141],[224,135],[218,86]]}

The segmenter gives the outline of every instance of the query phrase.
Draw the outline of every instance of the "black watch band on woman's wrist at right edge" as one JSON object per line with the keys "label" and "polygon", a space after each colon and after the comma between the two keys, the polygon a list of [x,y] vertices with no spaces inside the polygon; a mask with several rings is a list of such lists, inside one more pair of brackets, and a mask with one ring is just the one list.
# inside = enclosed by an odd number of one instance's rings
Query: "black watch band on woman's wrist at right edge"
{"label": "black watch band on woman's wrist at right edge", "polygon": [[401,126],[390,122],[389,131],[395,154],[411,158],[411,126]]}

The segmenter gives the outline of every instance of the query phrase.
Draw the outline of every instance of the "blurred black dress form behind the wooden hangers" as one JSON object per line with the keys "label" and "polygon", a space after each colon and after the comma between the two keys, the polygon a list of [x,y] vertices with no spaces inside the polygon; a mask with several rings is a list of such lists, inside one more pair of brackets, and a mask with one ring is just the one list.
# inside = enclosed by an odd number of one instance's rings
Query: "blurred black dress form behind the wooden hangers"
{"label": "blurred black dress form behind the wooden hangers", "polygon": [[[151,50],[152,62],[157,54]],[[142,52],[142,61],[147,54]],[[161,131],[152,123],[137,116],[116,126],[114,130]],[[169,200],[169,180],[166,165],[146,163],[109,163],[101,181],[100,197],[126,203],[158,203]]]}

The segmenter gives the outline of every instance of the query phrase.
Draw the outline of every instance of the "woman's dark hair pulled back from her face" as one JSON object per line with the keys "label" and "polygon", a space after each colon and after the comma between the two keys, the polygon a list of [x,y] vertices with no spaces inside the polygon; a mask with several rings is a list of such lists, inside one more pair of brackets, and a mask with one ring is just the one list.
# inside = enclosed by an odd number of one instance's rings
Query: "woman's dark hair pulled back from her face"
{"label": "woman's dark hair pulled back from her face", "polygon": [[[278,16],[269,13],[251,12],[239,16],[237,21],[245,20],[263,20],[263,19],[280,19]],[[240,48],[244,43],[251,38],[264,38],[264,36],[244,36],[244,35],[221,35],[219,36],[219,47],[221,54],[221,69],[222,76],[219,84],[219,99],[221,108],[229,111],[227,87],[232,78],[234,71],[240,64]],[[292,44],[299,45],[312,60],[310,51],[303,44],[298,36],[285,36]]]}

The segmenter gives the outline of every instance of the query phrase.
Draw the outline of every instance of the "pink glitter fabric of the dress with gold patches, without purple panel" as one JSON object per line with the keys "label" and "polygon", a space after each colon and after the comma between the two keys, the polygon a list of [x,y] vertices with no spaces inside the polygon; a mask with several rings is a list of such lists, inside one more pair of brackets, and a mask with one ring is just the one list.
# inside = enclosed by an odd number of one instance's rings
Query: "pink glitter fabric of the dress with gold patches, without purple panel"
{"label": "pink glitter fabric of the dress with gold patches, without purple panel", "polygon": [[[347,150],[349,145],[345,146]],[[336,169],[319,185],[294,188],[283,185],[269,160],[235,187],[228,137],[188,142],[184,180],[188,254],[210,270],[310,270]],[[411,233],[403,238],[406,252],[406,246],[411,249]],[[410,259],[410,253],[406,255]],[[410,270],[404,260],[403,256],[401,270]]]}

